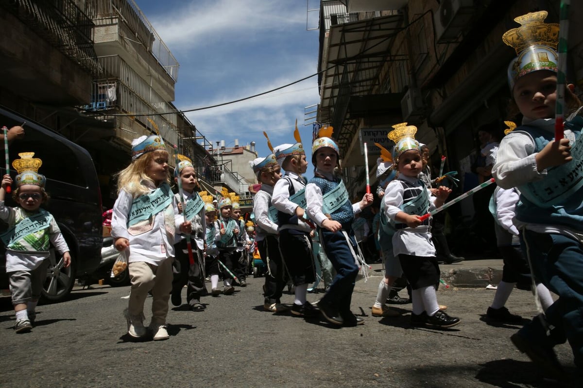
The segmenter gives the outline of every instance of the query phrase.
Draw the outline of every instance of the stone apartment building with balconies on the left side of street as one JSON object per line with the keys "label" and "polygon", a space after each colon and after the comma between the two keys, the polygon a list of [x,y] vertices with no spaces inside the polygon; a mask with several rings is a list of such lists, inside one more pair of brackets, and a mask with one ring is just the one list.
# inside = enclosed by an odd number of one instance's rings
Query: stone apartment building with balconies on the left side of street
{"label": "stone apartment building with balconies on the left side of street", "polygon": [[[134,0],[13,0],[0,10],[0,105],[86,148],[105,206],[142,135],[160,133],[202,177],[216,165],[212,144],[172,104],[180,66]],[[220,191],[225,176],[203,177],[205,189]]]}

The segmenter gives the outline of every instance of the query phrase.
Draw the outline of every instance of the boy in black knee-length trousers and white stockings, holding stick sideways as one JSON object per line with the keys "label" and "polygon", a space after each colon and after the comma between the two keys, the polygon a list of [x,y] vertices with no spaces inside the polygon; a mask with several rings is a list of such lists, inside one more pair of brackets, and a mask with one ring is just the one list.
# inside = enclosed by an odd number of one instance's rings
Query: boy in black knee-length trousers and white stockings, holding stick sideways
{"label": "boy in black knee-length trousers and white stockings, holding stick sideways", "polygon": [[388,136],[395,142],[392,157],[399,176],[387,185],[383,205],[395,229],[392,238],[394,255],[399,258],[412,287],[411,323],[414,326],[451,328],[458,325],[459,319],[441,311],[437,304],[436,284],[439,284],[440,270],[431,242],[430,220],[420,218],[430,209],[443,205],[451,189],[440,186],[436,197],[431,195],[429,188],[418,179],[423,162],[419,143],[415,140],[417,128],[407,123],[393,127],[395,130]]}

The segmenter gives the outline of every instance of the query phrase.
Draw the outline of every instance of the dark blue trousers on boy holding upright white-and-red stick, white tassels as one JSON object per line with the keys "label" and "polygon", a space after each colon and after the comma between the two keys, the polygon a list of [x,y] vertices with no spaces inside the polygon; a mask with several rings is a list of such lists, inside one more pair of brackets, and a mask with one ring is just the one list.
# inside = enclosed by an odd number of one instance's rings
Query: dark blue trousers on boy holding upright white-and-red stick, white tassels
{"label": "dark blue trousers on boy holding upright white-and-red stick, white tassels", "polygon": [[[352,291],[354,290],[356,276],[359,274],[359,266],[354,262],[354,256],[350,252],[350,247],[342,231],[333,233],[322,229],[321,233],[320,243],[322,248],[324,248],[326,256],[328,256],[336,270],[336,276],[322,301],[328,303],[340,315],[343,315],[350,312]],[[353,250],[357,251],[356,239],[354,239],[352,229],[349,232],[349,236]]]}

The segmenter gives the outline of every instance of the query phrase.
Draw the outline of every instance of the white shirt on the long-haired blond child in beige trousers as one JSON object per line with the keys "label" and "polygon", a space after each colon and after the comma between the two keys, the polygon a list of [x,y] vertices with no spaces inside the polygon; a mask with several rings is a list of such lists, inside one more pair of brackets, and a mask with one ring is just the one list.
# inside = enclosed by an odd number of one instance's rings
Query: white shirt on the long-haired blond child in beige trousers
{"label": "white shirt on the long-haired blond child in beige trousers", "polygon": [[[142,181],[142,184],[150,188],[150,193],[156,190],[150,181]],[[111,237],[129,241],[128,262],[143,261],[158,265],[164,259],[174,257],[174,239],[166,233],[163,211],[154,215],[152,229],[137,236],[131,236],[128,233],[128,215],[132,208],[132,202],[134,202],[132,195],[121,190],[113,205],[113,215],[111,216]],[[184,222],[184,218],[178,214],[178,208],[174,201],[172,201],[172,206],[174,207],[173,226],[175,233],[179,233],[180,224]]]}

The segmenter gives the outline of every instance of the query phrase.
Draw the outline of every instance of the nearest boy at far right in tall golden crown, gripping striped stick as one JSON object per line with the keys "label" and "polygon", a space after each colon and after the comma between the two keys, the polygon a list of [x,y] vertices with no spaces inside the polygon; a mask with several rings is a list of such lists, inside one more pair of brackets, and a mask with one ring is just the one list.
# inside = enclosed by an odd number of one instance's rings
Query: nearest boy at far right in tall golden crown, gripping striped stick
{"label": "nearest boy at far right in tall golden crown, gripping striped stick", "polygon": [[508,66],[508,84],[523,118],[500,142],[492,174],[498,186],[520,191],[514,225],[523,250],[536,279],[559,296],[511,340],[547,375],[562,380],[553,347],[566,339],[583,376],[583,180],[575,179],[583,163],[583,118],[568,85],[563,138],[554,138],[559,24],[544,23],[546,16],[519,16],[514,20],[521,26],[503,36],[518,55]]}

